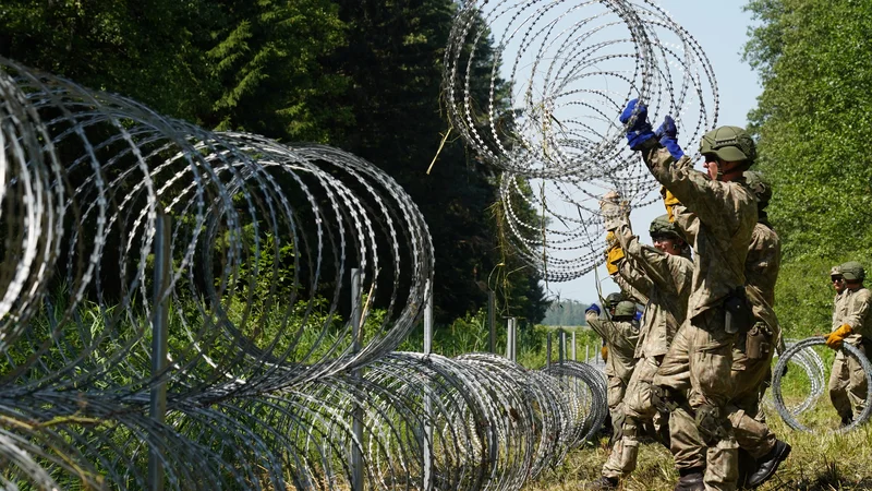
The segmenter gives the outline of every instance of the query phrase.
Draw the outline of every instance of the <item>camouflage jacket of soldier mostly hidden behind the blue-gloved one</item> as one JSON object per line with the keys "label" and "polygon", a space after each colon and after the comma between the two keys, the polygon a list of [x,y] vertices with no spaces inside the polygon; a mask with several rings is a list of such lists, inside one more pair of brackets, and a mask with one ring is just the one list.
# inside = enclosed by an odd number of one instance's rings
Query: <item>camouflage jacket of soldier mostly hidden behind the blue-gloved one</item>
{"label": "camouflage jacket of soldier mostly hidden behind the blue-gloved one", "polygon": [[782,239],[767,224],[758,223],[744,261],[744,292],[754,318],[763,321],[777,339],[780,336],[775,315],[775,282],[782,264]]}

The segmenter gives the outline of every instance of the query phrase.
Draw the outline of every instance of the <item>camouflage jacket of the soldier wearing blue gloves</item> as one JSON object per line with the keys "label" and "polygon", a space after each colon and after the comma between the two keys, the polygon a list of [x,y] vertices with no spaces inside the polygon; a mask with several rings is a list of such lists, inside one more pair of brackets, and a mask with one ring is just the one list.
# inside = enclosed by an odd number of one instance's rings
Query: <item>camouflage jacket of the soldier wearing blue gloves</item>
{"label": "camouflage jacket of the soldier wearing blue gloves", "polygon": [[744,179],[722,182],[693,169],[690,158],[673,159],[665,148],[645,155],[651,173],[681,204],[676,223],[693,247],[693,287],[688,318],[719,307],[744,287],[744,261],[756,224],[756,200]]}

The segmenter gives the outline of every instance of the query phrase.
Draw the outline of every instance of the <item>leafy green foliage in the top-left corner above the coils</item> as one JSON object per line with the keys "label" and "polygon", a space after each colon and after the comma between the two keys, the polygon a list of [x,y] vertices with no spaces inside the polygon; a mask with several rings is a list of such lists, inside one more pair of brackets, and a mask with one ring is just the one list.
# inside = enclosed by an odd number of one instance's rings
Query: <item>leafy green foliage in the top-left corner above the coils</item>
{"label": "leafy green foliage in the top-left corner above the coils", "polygon": [[10,0],[0,8],[0,53],[196,120],[209,105],[199,45],[215,15],[205,0]]}

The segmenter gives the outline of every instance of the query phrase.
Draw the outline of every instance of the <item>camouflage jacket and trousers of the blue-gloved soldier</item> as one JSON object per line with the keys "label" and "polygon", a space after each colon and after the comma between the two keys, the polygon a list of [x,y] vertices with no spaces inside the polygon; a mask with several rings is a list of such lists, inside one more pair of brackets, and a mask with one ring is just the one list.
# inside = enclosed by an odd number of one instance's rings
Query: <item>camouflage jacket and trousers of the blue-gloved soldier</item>
{"label": "camouflage jacket and trousers of the blue-gloved soldier", "polygon": [[[724,302],[744,291],[744,263],[756,224],[756,201],[742,178],[711,180],[693,170],[689,158],[675,161],[665,148],[649,152],[645,161],[654,177],[681,202],[677,208],[683,212],[676,221],[680,220],[679,227],[695,251],[688,319],[654,384],[680,394],[689,382],[688,402],[697,415],[700,434],[710,444],[706,460],[710,466],[727,469],[726,475],[712,479],[706,475],[706,487],[732,490],[738,479],[738,444],[726,419],[726,406],[734,395],[730,371],[737,334],[727,332]],[[732,327],[742,331],[750,326]],[[676,421],[673,414],[670,428],[689,422],[687,415]],[[687,434],[693,432],[688,428]],[[673,446],[682,443],[673,442]]]}

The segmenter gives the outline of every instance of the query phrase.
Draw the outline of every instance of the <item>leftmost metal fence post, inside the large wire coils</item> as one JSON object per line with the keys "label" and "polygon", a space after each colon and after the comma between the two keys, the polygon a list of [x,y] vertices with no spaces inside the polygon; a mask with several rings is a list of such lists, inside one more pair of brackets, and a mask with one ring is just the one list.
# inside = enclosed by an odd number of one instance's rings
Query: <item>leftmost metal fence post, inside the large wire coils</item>
{"label": "leftmost metal fence post, inside the large wire coils", "polygon": [[[172,249],[170,243],[172,223],[169,215],[157,214],[155,223],[155,266],[154,266],[154,309],[152,312],[152,378],[165,376],[168,364],[168,345],[170,310],[169,288],[172,278]],[[167,421],[167,382],[152,385],[152,419],[160,424]],[[148,453],[148,483],[152,491],[162,491],[165,484],[164,456],[154,445]]]}

